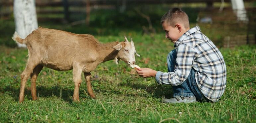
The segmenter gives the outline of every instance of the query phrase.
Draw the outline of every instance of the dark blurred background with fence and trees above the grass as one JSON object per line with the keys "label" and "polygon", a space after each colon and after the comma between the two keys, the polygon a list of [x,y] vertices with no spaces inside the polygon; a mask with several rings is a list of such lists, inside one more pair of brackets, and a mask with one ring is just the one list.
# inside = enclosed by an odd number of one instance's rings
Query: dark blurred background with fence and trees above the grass
{"label": "dark blurred background with fence and trees above the grass", "polygon": [[18,18],[14,13],[22,11],[14,11],[17,1],[25,1],[18,7],[35,3],[37,26],[120,40],[123,35],[164,39],[160,19],[179,7],[188,14],[190,27],[198,25],[218,47],[256,43],[255,0],[0,0],[0,45],[17,47],[11,39]]}

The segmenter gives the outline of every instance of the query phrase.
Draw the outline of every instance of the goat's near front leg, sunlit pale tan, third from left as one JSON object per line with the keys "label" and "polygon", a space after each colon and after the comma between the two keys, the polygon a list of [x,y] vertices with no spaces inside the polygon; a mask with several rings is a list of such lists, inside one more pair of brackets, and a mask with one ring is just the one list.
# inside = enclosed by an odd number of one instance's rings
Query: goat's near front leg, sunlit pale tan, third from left
{"label": "goat's near front leg, sunlit pale tan, third from left", "polygon": [[79,87],[80,87],[80,84],[82,83],[81,74],[82,74],[82,69],[73,68],[73,80],[75,82],[73,101],[79,101]]}

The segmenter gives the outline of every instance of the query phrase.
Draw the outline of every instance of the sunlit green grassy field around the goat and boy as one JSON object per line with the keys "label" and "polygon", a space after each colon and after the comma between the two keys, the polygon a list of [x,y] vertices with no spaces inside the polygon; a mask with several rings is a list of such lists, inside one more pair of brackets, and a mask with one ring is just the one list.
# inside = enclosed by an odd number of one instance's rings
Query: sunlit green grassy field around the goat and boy
{"label": "sunlit green grassy field around the goat and boy", "polygon": [[[122,18],[119,21],[122,22]],[[172,97],[171,86],[158,85],[154,78],[139,77],[123,61],[118,65],[107,61],[92,72],[96,99],[86,93],[82,77],[80,102],[72,102],[72,71],[43,68],[36,83],[38,100],[32,101],[28,80],[25,100],[19,104],[20,74],[25,68],[28,51],[15,48],[11,40],[15,30],[13,19],[0,19],[0,24],[0,122],[256,122],[256,45],[220,48],[227,66],[227,86],[215,103],[163,104],[161,98]],[[125,25],[125,28],[71,27],[39,22],[42,27],[93,34],[104,43],[123,41],[123,35],[131,36],[141,55],[136,57],[136,64],[166,72],[166,56],[174,47],[164,38],[161,25],[154,26],[157,34],[151,36],[143,35],[140,25],[135,28],[129,22]],[[191,23],[193,25],[195,23]],[[212,29],[211,25],[200,28],[211,39],[218,37],[215,30],[220,31]]]}

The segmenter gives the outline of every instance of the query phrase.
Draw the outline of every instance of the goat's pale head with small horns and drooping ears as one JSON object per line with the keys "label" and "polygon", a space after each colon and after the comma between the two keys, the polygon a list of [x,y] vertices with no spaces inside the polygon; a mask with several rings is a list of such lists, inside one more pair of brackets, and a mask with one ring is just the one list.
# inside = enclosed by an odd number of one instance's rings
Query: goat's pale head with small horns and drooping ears
{"label": "goat's pale head with small horns and drooping ears", "polygon": [[116,59],[116,64],[118,64],[119,59],[123,60],[125,63],[129,65],[135,65],[135,56],[140,56],[136,53],[134,43],[131,38],[131,42],[124,36],[124,42],[120,42],[116,46],[114,46],[116,50],[119,50]]}

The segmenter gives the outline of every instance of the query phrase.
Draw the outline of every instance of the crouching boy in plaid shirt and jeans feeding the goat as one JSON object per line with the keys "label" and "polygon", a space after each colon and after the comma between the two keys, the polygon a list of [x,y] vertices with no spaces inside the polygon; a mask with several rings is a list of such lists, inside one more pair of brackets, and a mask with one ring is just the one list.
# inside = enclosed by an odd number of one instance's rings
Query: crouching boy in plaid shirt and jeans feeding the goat
{"label": "crouching boy in plaid shirt and jeans feeding the goat", "polygon": [[161,23],[165,37],[175,47],[167,56],[168,72],[140,68],[138,75],[172,86],[174,98],[163,98],[163,103],[218,101],[226,87],[226,65],[220,51],[198,26],[189,28],[188,15],[180,8],[169,10]]}

